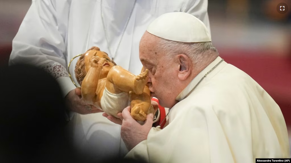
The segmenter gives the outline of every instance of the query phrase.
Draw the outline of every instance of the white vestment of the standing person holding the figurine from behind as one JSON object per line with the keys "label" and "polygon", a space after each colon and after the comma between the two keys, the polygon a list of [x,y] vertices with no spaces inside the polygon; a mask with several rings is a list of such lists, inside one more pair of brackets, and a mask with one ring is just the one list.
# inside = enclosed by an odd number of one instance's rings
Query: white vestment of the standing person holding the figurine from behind
{"label": "white vestment of the standing person holding the figurine from behind", "polygon": [[[32,0],[13,39],[9,64],[41,65],[56,77],[64,95],[76,88],[68,77],[68,63],[92,46],[98,46],[114,57],[116,64],[137,75],[142,68],[139,41],[149,23],[164,13],[184,11],[203,21],[210,30],[207,4],[207,0],[136,0],[135,4],[134,0],[103,0],[102,5],[100,0]],[[72,61],[70,67],[73,79],[76,62],[77,59]],[[102,158],[127,152],[120,138],[120,125],[102,113],[74,114],[71,123],[74,139],[89,149],[88,153]]]}

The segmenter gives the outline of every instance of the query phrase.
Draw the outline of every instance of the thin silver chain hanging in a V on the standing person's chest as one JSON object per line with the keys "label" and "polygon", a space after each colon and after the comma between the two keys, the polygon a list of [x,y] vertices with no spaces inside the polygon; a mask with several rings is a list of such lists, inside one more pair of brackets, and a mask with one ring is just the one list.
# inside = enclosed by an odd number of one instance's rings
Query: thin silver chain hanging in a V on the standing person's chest
{"label": "thin silver chain hanging in a V on the standing person's chest", "polygon": [[126,23],[125,23],[125,26],[124,26],[123,32],[122,32],[121,37],[120,37],[120,39],[119,39],[119,41],[118,41],[117,48],[116,48],[116,50],[115,50],[115,52],[114,52],[114,54],[113,54],[113,53],[111,53],[111,51],[110,51],[110,48],[109,48],[109,42],[108,42],[108,39],[107,39],[107,30],[106,30],[106,28],[105,28],[104,15],[103,15],[103,11],[102,11],[102,0],[101,0],[101,2],[100,2],[100,6],[101,6],[100,12],[101,12],[101,18],[102,18],[102,24],[103,24],[103,29],[104,29],[105,40],[106,40],[106,42],[107,42],[107,48],[108,48],[109,53],[110,53],[110,55],[111,55],[111,60],[112,60],[112,61],[114,61],[114,58],[116,57],[116,52],[118,51],[118,48],[119,48],[120,42],[121,42],[121,40],[122,40],[123,34],[125,33],[125,30],[126,30],[127,24],[128,24],[129,19],[130,19],[131,15],[132,15],[132,11],[133,11],[133,9],[134,9],[135,3],[136,3],[136,0],[134,1],[134,4],[133,4],[133,7],[132,7],[132,10],[131,10],[131,12],[130,12],[130,14],[129,14],[129,17],[127,18],[127,21],[126,21]]}

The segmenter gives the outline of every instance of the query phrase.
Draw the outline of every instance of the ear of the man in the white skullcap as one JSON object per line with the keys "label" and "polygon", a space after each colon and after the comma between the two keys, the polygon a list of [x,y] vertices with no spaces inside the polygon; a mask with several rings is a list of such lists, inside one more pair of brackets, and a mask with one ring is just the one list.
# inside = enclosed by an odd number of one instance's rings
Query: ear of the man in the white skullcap
{"label": "ear of the man in the white skullcap", "polygon": [[187,55],[179,54],[178,61],[180,65],[180,70],[178,74],[178,78],[180,80],[185,80],[191,73],[192,62]]}

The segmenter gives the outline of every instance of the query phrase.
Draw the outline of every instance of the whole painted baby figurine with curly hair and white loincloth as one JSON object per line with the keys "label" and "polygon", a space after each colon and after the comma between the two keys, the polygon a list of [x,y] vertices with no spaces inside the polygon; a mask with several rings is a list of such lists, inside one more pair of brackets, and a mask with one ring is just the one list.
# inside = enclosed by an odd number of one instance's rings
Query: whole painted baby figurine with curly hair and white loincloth
{"label": "whole painted baby figurine with curly hair and white loincloth", "polygon": [[134,75],[111,61],[106,52],[92,47],[81,55],[75,67],[82,99],[108,115],[117,117],[127,106],[138,122],[155,112],[151,105],[148,70]]}

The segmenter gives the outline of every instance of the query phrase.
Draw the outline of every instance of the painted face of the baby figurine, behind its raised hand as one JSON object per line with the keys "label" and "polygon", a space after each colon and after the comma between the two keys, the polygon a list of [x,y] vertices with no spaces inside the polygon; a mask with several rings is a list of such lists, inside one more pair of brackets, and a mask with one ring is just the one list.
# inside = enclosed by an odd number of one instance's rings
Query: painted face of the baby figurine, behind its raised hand
{"label": "painted face of the baby figurine, behind its raised hand", "polygon": [[[95,53],[96,52],[96,53]],[[106,62],[103,64],[103,68],[100,73],[100,78],[107,77],[107,74],[109,70],[114,66],[114,64],[111,62],[111,59],[108,57],[108,55],[105,52],[99,51],[99,50],[89,50],[85,54],[85,69],[86,72],[91,67],[91,60],[94,56],[100,57],[100,59],[105,58]]]}

